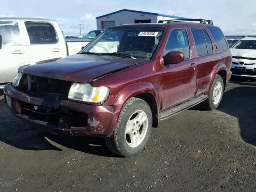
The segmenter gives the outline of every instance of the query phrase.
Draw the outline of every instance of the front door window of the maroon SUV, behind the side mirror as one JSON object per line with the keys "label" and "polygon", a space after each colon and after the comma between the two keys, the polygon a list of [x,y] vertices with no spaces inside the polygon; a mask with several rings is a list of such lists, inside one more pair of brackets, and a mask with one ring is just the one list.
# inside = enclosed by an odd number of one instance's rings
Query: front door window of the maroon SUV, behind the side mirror
{"label": "front door window of the maroon SUV, behind the side mirror", "polygon": [[164,56],[170,51],[183,52],[185,59],[190,57],[188,35],[185,29],[175,29],[171,31],[164,48]]}

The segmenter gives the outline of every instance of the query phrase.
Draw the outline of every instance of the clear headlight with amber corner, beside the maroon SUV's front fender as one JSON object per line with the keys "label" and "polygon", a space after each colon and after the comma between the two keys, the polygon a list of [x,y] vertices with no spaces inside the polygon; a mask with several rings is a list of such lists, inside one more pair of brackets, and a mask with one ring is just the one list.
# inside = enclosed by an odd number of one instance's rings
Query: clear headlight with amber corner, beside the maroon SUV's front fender
{"label": "clear headlight with amber corner, beside the maroon SUV's front fender", "polygon": [[92,87],[90,84],[73,83],[68,92],[70,100],[101,103],[109,94],[108,87]]}

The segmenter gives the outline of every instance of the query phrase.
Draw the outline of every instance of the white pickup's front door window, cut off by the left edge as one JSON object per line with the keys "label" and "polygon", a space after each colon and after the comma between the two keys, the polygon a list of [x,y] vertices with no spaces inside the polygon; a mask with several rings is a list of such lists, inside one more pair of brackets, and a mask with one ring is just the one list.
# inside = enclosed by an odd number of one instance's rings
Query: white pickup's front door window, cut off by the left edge
{"label": "white pickup's front door window, cut off by the left edge", "polygon": [[0,35],[2,36],[2,45],[20,44],[20,30],[16,22],[0,22]]}

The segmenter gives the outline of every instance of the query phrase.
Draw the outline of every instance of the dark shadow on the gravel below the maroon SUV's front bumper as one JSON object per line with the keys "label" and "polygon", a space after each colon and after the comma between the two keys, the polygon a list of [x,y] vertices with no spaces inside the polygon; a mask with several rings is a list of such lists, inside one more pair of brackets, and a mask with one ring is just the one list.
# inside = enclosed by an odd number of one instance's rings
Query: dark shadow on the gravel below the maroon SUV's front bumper
{"label": "dark shadow on the gravel below the maroon SUV's front bumper", "polygon": [[[6,107],[0,97],[0,141],[23,150],[59,150],[56,144],[81,152],[116,157],[111,153],[103,138],[86,136],[58,136],[43,132],[18,120]],[[54,143],[53,143],[54,142]],[[52,144],[53,143],[53,144]]]}

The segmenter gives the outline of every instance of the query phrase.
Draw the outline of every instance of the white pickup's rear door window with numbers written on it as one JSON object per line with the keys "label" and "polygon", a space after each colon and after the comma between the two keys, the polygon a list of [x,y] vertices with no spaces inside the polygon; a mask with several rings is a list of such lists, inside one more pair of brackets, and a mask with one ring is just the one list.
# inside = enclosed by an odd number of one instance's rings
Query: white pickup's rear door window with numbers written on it
{"label": "white pickup's rear door window with numbers written on it", "polygon": [[47,22],[25,22],[30,44],[52,44],[58,41],[52,24]]}

